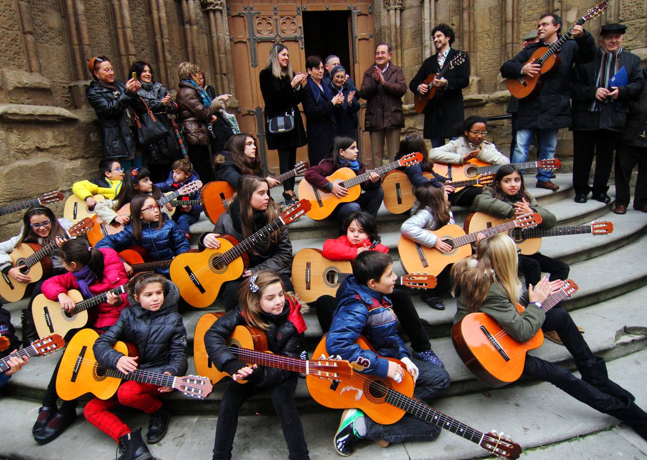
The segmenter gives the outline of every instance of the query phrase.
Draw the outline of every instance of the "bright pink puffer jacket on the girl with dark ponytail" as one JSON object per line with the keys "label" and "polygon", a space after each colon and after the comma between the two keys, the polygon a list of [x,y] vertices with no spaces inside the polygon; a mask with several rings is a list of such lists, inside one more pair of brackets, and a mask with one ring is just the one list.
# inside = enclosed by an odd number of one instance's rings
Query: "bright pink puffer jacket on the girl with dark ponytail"
{"label": "bright pink puffer jacket on the girl with dark ponytail", "polygon": [[[126,270],[124,269],[124,262],[119,259],[119,255],[114,249],[102,248],[99,249],[104,255],[104,278],[102,281],[94,282],[89,286],[90,292],[94,295],[106,292],[122,284],[128,282]],[[60,293],[67,293],[71,289],[78,289],[79,285],[76,282],[74,274],[68,272],[63,275],[51,277],[43,282],[43,294],[50,300],[58,301]],[[117,306],[112,306],[107,302],[100,303],[96,307],[96,321],[93,327],[109,327],[116,323],[121,310],[129,305],[127,294],[121,295],[122,303]]]}

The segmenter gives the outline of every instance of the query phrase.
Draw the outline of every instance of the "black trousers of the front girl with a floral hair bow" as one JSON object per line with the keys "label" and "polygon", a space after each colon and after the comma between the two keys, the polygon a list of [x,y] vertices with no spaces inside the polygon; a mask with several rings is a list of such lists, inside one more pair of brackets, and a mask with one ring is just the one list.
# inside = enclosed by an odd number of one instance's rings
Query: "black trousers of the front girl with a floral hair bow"
{"label": "black trousers of the front girl with a floral hair bow", "polygon": [[[292,374],[288,380],[271,389],[272,403],[281,422],[281,430],[283,430],[283,437],[285,437],[290,460],[310,458],[305,436],[303,435],[301,419],[294,403],[294,389],[296,389],[297,378],[296,374]],[[238,384],[229,382],[227,384],[215,426],[214,460],[229,460],[232,458],[234,437],[236,437],[236,429],[238,428],[238,411],[243,402],[263,390],[265,388],[260,388],[252,383]]]}

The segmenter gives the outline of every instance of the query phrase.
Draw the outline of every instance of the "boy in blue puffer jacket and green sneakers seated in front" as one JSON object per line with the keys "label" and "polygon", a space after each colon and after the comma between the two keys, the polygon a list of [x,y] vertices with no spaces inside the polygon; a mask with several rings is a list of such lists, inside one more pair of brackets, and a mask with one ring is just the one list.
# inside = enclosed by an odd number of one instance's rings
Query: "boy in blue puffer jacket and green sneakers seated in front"
{"label": "boy in blue puffer jacket and green sneakers seated in front", "polygon": [[[450,377],[442,365],[411,358],[397,334],[396,317],[388,294],[393,292],[396,276],[391,257],[377,251],[364,251],[353,262],[353,276],[337,290],[337,309],[326,336],[326,350],[353,363],[356,371],[392,378],[401,382],[408,372],[415,381],[413,397],[429,402],[449,386]],[[375,352],[364,350],[356,340],[362,334]],[[397,358],[406,366],[382,358]],[[382,425],[358,409],[346,409],[334,436],[337,453],[353,454],[358,439],[375,441],[382,447],[402,441],[432,441],[440,428],[406,414],[398,422]]]}

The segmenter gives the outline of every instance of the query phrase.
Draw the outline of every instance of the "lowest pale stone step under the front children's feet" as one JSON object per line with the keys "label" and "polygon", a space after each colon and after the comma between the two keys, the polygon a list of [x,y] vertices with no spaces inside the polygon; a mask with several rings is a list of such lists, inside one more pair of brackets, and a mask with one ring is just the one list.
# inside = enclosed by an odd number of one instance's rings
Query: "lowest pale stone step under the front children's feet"
{"label": "lowest pale stone step under the front children's feet", "polygon": [[[630,390],[642,407],[647,403],[647,386],[639,384],[644,380],[639,364],[645,360],[647,351],[639,351],[608,363],[609,375]],[[247,402],[254,415],[239,418],[234,455],[240,459],[284,459],[287,449],[276,415],[271,408],[265,411],[257,404],[255,399]],[[0,443],[0,457],[63,460],[79,458],[79,452],[85,458],[108,458],[115,454],[115,442],[86,423],[83,417],[65,435],[39,446],[29,429],[36,420],[38,408],[39,403],[33,400],[3,398],[3,410],[12,414],[11,422],[3,424],[3,433],[11,442]],[[477,430],[503,431],[521,445],[524,459],[638,459],[647,453],[647,443],[630,428],[620,425],[609,430],[619,420],[589,408],[545,382],[446,397],[437,400],[433,408]],[[117,412],[129,426],[143,427],[145,435],[148,415],[122,409]],[[311,458],[336,458],[332,439],[340,415],[340,410],[301,411]],[[166,437],[150,446],[150,450],[164,460],[209,458],[216,421],[216,413],[174,415]],[[476,444],[443,430],[435,441],[391,444],[386,449],[360,441],[353,458],[454,460],[485,455],[487,452]]]}

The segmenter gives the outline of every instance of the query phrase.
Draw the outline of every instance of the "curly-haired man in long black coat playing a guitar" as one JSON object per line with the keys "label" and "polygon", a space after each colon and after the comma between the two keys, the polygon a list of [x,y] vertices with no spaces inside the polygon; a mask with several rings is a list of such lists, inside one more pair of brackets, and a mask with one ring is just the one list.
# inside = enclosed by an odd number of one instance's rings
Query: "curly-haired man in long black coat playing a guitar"
{"label": "curly-haired man in long black coat playing a guitar", "polygon": [[[443,66],[449,65],[459,53],[452,49],[455,34],[448,25],[439,24],[434,27],[432,37],[436,54],[424,60],[418,73],[411,80],[409,89],[414,95],[427,93],[430,85],[424,84],[424,80],[432,73],[439,73]],[[427,102],[424,109],[422,130],[422,137],[431,139],[432,147],[444,145],[445,139],[456,139],[454,126],[465,119],[462,90],[469,84],[470,59],[467,56],[465,62],[448,69],[443,78],[433,80],[432,85],[437,89],[435,96]]]}

